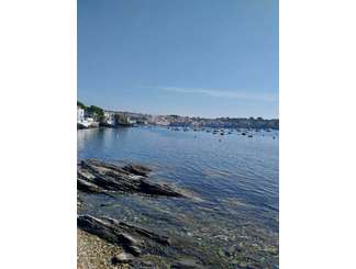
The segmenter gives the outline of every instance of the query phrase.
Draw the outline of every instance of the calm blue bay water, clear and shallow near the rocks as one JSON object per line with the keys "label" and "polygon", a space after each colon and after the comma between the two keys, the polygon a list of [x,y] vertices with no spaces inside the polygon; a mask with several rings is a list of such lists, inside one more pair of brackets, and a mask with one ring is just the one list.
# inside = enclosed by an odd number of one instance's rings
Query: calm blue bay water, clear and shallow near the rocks
{"label": "calm blue bay water, clear and shallow near the rocks", "polygon": [[[78,160],[98,158],[153,168],[152,179],[192,199],[84,194],[84,213],[110,215],[203,250],[214,268],[278,268],[278,131],[78,131]],[[204,259],[204,257],[201,257]],[[253,267],[255,266],[255,267]]]}

